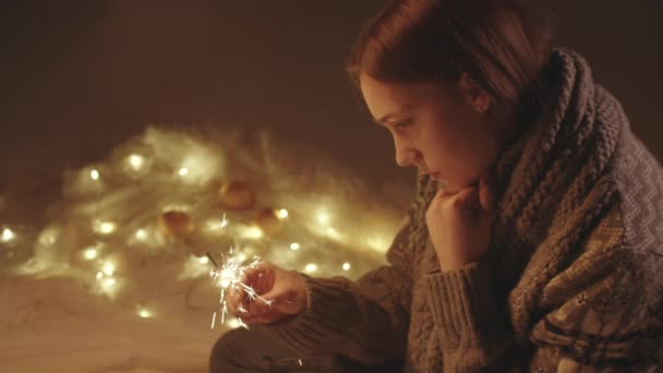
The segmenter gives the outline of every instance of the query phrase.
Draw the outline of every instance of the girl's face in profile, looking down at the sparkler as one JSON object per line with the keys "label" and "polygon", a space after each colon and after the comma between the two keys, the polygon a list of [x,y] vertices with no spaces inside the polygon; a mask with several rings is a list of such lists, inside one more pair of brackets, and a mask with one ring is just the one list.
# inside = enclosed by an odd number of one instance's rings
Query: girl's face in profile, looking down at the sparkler
{"label": "girl's face in profile, looking down at the sparkler", "polygon": [[485,112],[487,94],[466,73],[445,88],[384,83],[365,74],[360,86],[374,121],[394,137],[396,163],[415,166],[451,193],[478,182],[502,151],[505,133]]}

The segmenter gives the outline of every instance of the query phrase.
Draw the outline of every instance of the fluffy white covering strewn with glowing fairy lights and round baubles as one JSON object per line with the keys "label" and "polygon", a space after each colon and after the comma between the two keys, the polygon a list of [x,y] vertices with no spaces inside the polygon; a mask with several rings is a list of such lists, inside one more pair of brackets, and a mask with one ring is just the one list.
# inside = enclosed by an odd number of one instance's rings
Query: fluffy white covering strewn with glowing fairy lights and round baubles
{"label": "fluffy white covering strewn with glowing fairy lights and round baubles", "polygon": [[266,134],[148,128],[67,171],[44,226],[0,200],[0,371],[204,371],[241,325],[221,312],[209,329],[207,253],[321,277],[384,263],[400,212],[322,158]]}

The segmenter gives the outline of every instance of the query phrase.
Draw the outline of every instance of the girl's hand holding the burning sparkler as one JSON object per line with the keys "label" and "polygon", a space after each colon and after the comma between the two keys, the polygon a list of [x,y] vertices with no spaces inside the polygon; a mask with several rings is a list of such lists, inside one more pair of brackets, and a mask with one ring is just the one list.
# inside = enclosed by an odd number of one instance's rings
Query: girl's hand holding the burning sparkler
{"label": "girl's hand holding the burning sparkler", "polygon": [[282,322],[306,309],[309,297],[304,280],[293,272],[263,262],[246,268],[242,282],[252,287],[264,299],[251,300],[239,286],[227,290],[231,312],[244,322],[260,324]]}

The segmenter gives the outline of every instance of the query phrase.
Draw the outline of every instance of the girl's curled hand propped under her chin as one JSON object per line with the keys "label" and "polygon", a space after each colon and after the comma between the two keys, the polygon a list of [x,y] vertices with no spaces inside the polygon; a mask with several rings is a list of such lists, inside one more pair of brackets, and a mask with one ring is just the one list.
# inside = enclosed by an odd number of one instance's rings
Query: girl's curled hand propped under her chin
{"label": "girl's curled hand propped under her chin", "polygon": [[426,212],[429,234],[442,270],[479,262],[487,252],[495,209],[495,190],[489,172],[479,186],[457,194],[437,191]]}

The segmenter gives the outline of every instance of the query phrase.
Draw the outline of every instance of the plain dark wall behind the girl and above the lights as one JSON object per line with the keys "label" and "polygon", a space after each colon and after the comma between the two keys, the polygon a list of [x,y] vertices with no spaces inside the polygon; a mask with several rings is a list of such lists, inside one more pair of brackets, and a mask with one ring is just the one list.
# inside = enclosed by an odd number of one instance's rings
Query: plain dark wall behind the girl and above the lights
{"label": "plain dark wall behind the girl and above the lights", "polygon": [[[407,180],[343,63],[382,0],[3,1],[0,185],[106,157],[147,123],[270,128],[370,185]],[[533,3],[663,159],[661,1]]]}

